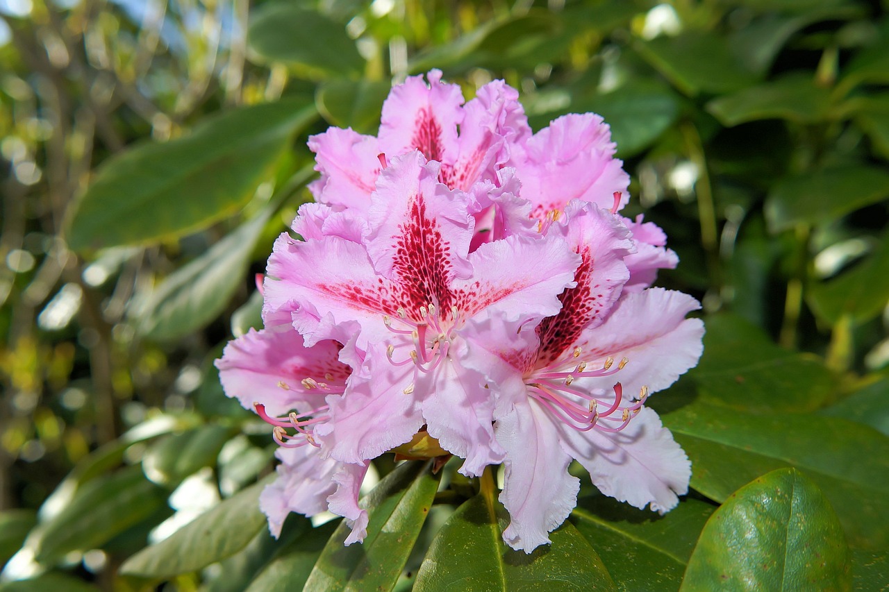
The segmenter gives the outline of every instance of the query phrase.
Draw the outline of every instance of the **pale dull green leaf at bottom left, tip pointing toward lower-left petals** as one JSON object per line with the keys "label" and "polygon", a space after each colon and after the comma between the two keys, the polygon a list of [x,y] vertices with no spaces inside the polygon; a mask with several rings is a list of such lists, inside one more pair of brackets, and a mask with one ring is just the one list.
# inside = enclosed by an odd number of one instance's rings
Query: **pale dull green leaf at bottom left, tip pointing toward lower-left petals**
{"label": "pale dull green leaf at bottom left, tip pointing toward lower-left petals", "polygon": [[124,575],[164,580],[195,572],[234,555],[266,525],[260,492],[269,479],[253,484],[197,516],[169,538],[142,549],[121,565]]}

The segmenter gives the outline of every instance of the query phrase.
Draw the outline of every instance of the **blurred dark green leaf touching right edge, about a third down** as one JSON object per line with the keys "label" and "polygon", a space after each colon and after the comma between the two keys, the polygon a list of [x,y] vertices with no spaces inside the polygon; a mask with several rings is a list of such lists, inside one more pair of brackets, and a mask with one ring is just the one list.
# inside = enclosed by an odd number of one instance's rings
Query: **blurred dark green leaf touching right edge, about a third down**
{"label": "blurred dark green leaf touching right edge, about a third down", "polygon": [[889,172],[861,164],[781,180],[765,200],[769,229],[833,221],[889,196]]}

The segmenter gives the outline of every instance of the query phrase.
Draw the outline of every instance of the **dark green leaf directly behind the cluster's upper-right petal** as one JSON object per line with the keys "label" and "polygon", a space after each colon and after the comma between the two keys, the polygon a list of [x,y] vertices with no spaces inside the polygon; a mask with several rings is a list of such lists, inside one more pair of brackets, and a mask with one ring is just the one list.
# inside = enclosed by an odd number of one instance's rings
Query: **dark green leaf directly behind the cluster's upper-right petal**
{"label": "dark green leaf directly behind the cluster's upper-right petal", "polygon": [[611,126],[617,156],[627,158],[648,148],[679,116],[675,92],[660,84],[632,82],[607,94],[572,104],[578,112],[592,111]]}

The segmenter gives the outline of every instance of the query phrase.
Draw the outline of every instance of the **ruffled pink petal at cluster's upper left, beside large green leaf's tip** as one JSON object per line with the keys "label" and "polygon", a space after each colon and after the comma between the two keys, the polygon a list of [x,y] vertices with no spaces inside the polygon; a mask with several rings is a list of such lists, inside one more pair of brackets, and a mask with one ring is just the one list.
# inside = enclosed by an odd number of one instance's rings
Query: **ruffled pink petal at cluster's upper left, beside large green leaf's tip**
{"label": "ruffled pink petal at cluster's upper left, beside large green leaf's tip", "polygon": [[373,136],[331,127],[311,136],[308,148],[316,154],[315,170],[321,178],[309,189],[321,204],[367,212],[371,192],[380,173],[380,147]]}

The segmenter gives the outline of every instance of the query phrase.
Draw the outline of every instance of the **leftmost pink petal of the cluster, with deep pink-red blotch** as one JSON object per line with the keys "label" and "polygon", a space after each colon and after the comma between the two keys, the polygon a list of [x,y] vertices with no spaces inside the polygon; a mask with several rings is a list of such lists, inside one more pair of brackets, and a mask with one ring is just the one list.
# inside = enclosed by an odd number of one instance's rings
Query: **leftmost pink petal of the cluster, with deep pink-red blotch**
{"label": "leftmost pink petal of the cluster, with deep pink-red blotch", "polygon": [[269,414],[284,415],[323,404],[317,390],[302,386],[303,379],[324,381],[329,374],[346,381],[349,368],[337,359],[339,352],[333,341],[306,348],[302,336],[285,325],[278,331],[251,329],[229,341],[215,364],[226,395],[237,397],[246,409],[260,403]]}

